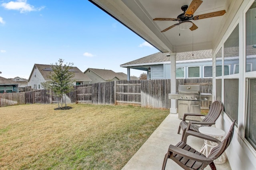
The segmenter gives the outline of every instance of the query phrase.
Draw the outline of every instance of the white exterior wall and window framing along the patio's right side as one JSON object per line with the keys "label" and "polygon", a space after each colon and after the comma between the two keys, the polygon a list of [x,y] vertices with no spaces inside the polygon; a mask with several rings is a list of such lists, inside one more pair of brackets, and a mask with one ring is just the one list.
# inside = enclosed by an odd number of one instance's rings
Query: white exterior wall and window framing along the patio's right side
{"label": "white exterior wall and window framing along the patio's right side", "polygon": [[[229,11],[230,14],[225,16],[226,20],[223,20],[222,32],[216,36],[216,44],[214,44],[214,57],[213,57],[213,100],[215,100],[218,96],[216,94],[220,94],[216,88],[216,80],[221,81],[221,100],[225,106],[224,100],[224,80],[226,79],[234,79],[238,78],[239,80],[239,92],[238,92],[238,119],[237,125],[235,127],[234,136],[230,143],[230,146],[226,150],[226,155],[228,157],[228,161],[230,162],[230,166],[232,170],[254,170],[256,169],[256,150],[254,147],[248,142],[246,139],[246,104],[247,104],[247,96],[246,96],[246,78],[256,78],[256,71],[246,72],[246,17],[245,13],[250,8],[254,0],[236,0],[232,1],[230,5]],[[254,17],[254,16],[253,16]],[[219,65],[218,61],[216,61],[216,53],[222,48],[222,56],[224,56],[224,42],[228,39],[230,33],[233,31],[234,27],[239,24],[239,73],[233,74],[232,68],[234,68],[235,63],[237,61],[230,61],[230,75],[219,76],[216,78],[216,65]],[[255,29],[255,27],[254,27]],[[252,62],[254,63],[254,62]],[[222,65],[229,64],[224,63],[222,60]],[[252,66],[253,67],[253,66]],[[234,69],[233,69],[234,70]],[[223,74],[223,70],[222,70]],[[220,86],[220,85],[219,85]],[[231,125],[231,119],[227,113],[223,113],[220,115],[219,119],[216,121],[216,127],[223,129],[225,132],[228,131]]]}

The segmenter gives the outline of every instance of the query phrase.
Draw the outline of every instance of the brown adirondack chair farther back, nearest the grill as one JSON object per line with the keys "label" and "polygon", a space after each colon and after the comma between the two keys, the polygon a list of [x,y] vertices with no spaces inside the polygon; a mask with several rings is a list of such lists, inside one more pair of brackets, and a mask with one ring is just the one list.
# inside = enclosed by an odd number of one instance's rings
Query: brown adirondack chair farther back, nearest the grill
{"label": "brown adirondack chair farther back, nearest the grill", "polygon": [[[220,113],[223,111],[223,106],[220,101],[216,100],[210,105],[210,109],[208,111],[207,115],[202,115],[198,113],[184,113],[184,117],[182,121],[180,122],[180,126],[178,129],[178,134],[180,133],[180,129],[182,129],[182,138],[184,138],[184,133],[187,128],[192,131],[198,132],[198,128],[201,126],[212,126],[215,124],[215,121],[220,116]],[[202,121],[189,121],[189,123],[186,121],[186,117],[192,115],[192,116],[205,116]]]}

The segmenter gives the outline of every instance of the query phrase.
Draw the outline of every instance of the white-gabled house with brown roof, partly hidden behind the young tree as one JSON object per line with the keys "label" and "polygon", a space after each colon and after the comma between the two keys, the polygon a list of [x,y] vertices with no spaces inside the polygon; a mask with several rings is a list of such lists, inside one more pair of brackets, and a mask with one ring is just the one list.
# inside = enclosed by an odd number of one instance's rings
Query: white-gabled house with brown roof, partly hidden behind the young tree
{"label": "white-gabled house with brown roof, partly hidden behind the young tree", "polygon": [[[50,72],[53,72],[51,65],[47,64],[34,64],[34,67],[28,78],[28,86],[32,89],[44,89],[41,85],[42,82],[51,81],[48,76]],[[91,79],[79,70],[77,67],[72,67],[70,72],[74,72],[73,77],[74,85],[90,84]]]}

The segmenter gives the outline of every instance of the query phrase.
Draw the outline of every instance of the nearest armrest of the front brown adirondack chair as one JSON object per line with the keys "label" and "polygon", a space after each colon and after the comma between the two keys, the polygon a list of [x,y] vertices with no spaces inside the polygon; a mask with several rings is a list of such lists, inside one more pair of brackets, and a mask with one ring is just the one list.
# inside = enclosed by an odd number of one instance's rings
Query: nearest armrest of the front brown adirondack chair
{"label": "nearest armrest of the front brown adirondack chair", "polygon": [[212,159],[206,158],[205,156],[201,156],[201,155],[195,154],[193,152],[181,149],[181,148],[176,147],[174,145],[170,145],[169,146],[169,151],[171,151],[171,152],[173,152],[175,154],[178,154],[180,156],[183,156],[185,158],[198,161],[198,162],[211,162],[212,161]]}

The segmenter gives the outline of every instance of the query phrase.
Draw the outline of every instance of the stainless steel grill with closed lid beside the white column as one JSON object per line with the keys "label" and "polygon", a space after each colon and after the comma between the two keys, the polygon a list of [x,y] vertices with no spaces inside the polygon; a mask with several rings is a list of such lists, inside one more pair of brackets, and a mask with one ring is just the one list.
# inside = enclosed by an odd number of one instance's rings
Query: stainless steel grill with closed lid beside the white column
{"label": "stainless steel grill with closed lid beside the white column", "polygon": [[[178,116],[182,119],[184,113],[201,113],[201,101],[212,101],[212,94],[200,93],[200,85],[179,85],[178,93],[169,94],[169,99],[178,100]],[[188,119],[201,120],[198,116],[190,116]]]}

